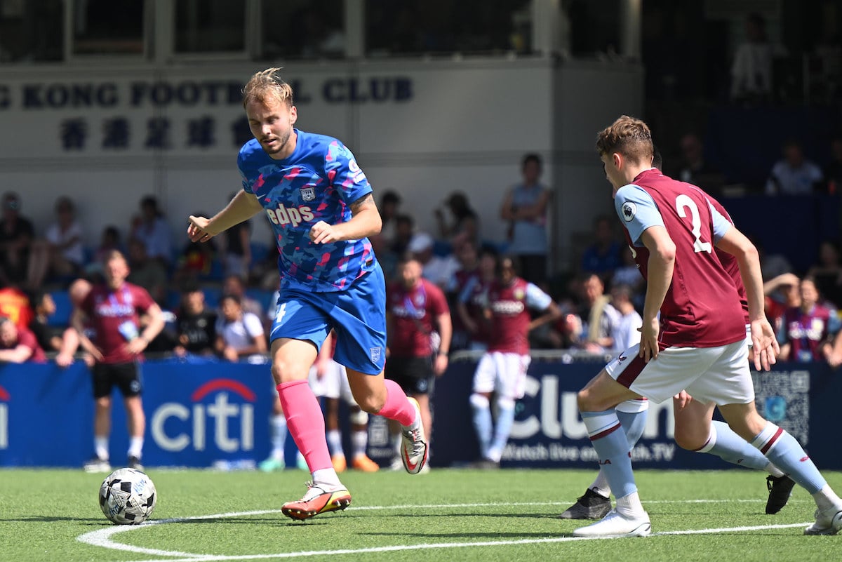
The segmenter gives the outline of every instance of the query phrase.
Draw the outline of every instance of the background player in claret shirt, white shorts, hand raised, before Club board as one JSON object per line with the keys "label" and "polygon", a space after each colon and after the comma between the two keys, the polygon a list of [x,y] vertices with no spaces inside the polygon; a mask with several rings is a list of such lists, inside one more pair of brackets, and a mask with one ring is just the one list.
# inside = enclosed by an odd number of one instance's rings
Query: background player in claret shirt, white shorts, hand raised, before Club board
{"label": "background player in claret shirt, white shorts, hand raised, before Club board", "polygon": [[[474,373],[471,408],[482,459],[480,468],[498,468],[514,423],[514,406],[523,398],[530,364],[529,332],[556,321],[561,310],[549,294],[517,275],[513,257],[498,257],[497,276],[486,292],[486,315],[491,320],[488,350]],[[535,320],[530,310],[541,313]],[[497,396],[497,420],[491,398]]]}

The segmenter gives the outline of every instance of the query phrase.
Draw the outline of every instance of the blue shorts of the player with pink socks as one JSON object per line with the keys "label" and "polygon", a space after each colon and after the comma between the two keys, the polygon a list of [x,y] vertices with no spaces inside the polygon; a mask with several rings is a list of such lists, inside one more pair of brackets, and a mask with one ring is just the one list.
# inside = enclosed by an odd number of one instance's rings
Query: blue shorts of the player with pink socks
{"label": "blue shorts of the player with pink socks", "polygon": [[321,348],[331,329],[336,331],[337,363],[381,374],[386,364],[386,281],[380,265],[341,291],[280,291],[270,342],[287,337]]}

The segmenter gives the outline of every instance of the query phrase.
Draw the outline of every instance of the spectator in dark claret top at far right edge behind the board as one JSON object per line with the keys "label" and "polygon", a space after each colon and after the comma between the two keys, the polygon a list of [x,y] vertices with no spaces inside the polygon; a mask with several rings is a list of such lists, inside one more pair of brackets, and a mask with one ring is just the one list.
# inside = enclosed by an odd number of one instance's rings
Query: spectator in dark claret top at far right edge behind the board
{"label": "spectator in dark claret top at far right edge behind the board", "polygon": [[839,346],[842,322],[835,310],[819,305],[819,294],[813,278],[805,277],[799,285],[801,305],[786,310],[778,331],[781,358],[798,363],[827,361],[839,366],[834,349]]}

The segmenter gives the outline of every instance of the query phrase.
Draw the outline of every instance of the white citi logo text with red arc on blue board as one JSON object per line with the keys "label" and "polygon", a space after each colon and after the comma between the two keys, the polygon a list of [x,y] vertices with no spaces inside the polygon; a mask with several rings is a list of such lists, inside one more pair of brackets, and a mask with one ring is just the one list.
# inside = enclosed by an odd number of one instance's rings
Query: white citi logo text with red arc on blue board
{"label": "white citi logo text with red arc on blue board", "polygon": [[[229,392],[239,395],[246,403],[229,401]],[[215,395],[214,401],[202,402],[207,395]],[[152,438],[165,451],[183,451],[188,447],[204,451],[209,436],[220,451],[250,451],[254,448],[256,400],[254,392],[237,380],[210,380],[190,395],[192,408],[179,402],[159,406],[152,414]],[[239,434],[232,436],[231,427],[236,426]]]}

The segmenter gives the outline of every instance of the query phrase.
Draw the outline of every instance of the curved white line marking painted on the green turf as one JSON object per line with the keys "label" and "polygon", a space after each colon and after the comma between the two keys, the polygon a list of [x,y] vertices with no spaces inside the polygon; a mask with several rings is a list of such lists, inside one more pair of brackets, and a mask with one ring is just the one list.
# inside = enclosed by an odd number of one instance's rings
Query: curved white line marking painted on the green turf
{"label": "curved white line marking painted on the green turf", "polygon": [[[753,502],[760,500],[690,500],[690,501],[647,501],[646,503],[717,503],[722,501],[743,501]],[[354,511],[364,510],[390,510],[390,509],[440,509],[440,508],[459,508],[459,507],[509,507],[509,506],[557,506],[567,505],[568,502],[562,501],[525,501],[507,504],[499,503],[457,503],[457,504],[431,504],[427,506],[407,505],[407,506],[356,506],[351,509]],[[159,550],[147,549],[144,547],[135,546],[132,544],[116,543],[111,537],[117,533],[126,533],[129,531],[136,531],[142,528],[150,528],[155,525],[163,525],[164,523],[178,523],[186,521],[201,521],[203,519],[224,519],[226,517],[248,517],[253,515],[266,515],[268,513],[280,513],[278,509],[260,510],[254,512],[228,512],[216,513],[214,515],[204,515],[195,517],[177,517],[173,519],[158,519],[156,521],[146,522],[141,525],[115,525],[91,533],[84,533],[77,537],[81,543],[87,543],[92,546],[102,547],[104,549],[124,550],[126,552],[133,552],[136,554],[152,554],[157,556],[172,556],[181,557],[176,559],[168,559],[166,562],[211,562],[214,560],[257,560],[257,559],[284,559],[294,558],[296,556],[330,556],[335,554],[367,554],[378,552],[397,552],[402,550],[424,550],[424,549],[459,549],[465,547],[480,547],[480,546],[510,546],[515,544],[541,544],[541,543],[568,543],[571,541],[581,540],[605,540],[600,537],[553,537],[553,538],[523,538],[517,540],[503,540],[503,541],[482,541],[469,543],[420,543],[410,545],[397,546],[382,546],[371,547],[368,549],[339,549],[339,550],[312,550],[304,552],[287,552],[278,554],[195,554],[189,552],[179,552],[178,550]],[[690,534],[706,534],[706,533],[740,533],[744,531],[765,531],[769,529],[784,529],[806,527],[811,522],[804,523],[788,523],[784,525],[756,525],[750,527],[728,527],[728,528],[707,528],[707,529],[687,529],[681,531],[662,531],[660,533],[653,533],[651,536],[668,536],[668,535],[690,535]],[[139,560],[137,562],[161,562],[160,559]]]}

